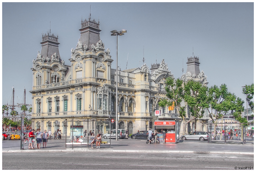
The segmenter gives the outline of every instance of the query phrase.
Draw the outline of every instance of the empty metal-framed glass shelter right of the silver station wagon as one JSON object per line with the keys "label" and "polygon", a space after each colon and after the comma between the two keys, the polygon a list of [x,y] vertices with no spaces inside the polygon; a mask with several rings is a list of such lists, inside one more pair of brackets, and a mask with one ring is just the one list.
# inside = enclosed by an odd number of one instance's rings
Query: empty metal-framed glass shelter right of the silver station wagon
{"label": "empty metal-framed glass shelter right of the silver station wagon", "polygon": [[207,123],[208,143],[253,143],[246,137],[249,123]]}

